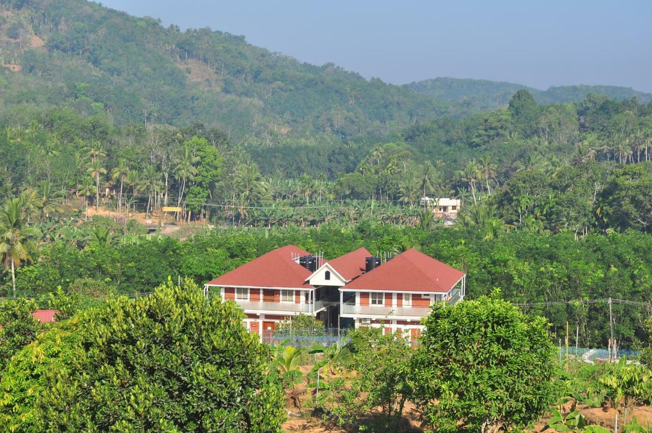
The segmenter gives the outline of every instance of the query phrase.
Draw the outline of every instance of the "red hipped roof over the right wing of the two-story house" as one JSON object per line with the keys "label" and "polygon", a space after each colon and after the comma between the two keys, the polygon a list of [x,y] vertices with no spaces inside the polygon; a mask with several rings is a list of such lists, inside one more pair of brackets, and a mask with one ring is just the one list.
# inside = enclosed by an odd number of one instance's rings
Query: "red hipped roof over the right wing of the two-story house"
{"label": "red hipped roof over the right wing of the two-story house", "polygon": [[349,282],[342,290],[432,291],[447,293],[464,276],[439,260],[410,248]]}

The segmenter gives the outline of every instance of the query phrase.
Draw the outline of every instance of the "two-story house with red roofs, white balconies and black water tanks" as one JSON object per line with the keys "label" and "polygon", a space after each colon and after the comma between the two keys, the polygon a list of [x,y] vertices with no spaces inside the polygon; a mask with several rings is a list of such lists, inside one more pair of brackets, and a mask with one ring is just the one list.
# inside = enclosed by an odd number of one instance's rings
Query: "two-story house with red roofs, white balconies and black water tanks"
{"label": "two-story house with red roofs, white balconies and black water tanks", "polygon": [[365,248],[325,261],[286,245],[209,281],[205,290],[240,305],[244,325],[261,336],[302,313],[327,327],[351,318],[355,327],[384,323],[385,332],[418,335],[430,304],[464,297],[464,273],[416,250],[385,263]]}

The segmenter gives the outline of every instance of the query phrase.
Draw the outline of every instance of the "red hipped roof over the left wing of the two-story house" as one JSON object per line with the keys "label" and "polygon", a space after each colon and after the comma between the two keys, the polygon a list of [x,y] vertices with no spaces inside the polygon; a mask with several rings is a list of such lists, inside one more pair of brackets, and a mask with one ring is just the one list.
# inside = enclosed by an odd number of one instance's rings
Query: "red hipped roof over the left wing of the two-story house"
{"label": "red hipped roof over the left wing of the two-story house", "polygon": [[218,276],[207,284],[222,287],[311,288],[305,280],[312,272],[292,260],[292,254],[310,255],[294,245],[282,246]]}

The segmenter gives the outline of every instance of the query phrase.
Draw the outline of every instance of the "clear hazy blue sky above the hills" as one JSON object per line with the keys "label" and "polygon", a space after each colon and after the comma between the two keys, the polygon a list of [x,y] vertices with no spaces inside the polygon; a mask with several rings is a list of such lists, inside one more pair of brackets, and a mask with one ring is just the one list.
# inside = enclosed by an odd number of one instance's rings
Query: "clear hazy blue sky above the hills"
{"label": "clear hazy blue sky above the hills", "polygon": [[104,0],[391,83],[452,76],[652,91],[652,1]]}

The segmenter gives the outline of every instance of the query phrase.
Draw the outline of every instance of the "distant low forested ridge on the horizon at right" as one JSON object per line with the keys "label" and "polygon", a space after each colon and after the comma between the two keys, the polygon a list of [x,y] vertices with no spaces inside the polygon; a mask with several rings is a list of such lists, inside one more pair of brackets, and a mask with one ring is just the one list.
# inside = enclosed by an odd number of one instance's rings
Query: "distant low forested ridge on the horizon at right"
{"label": "distant low forested ridge on the horizon at right", "polygon": [[652,101],[652,94],[650,93],[614,85],[563,85],[550,87],[544,91],[522,84],[440,77],[409,83],[406,87],[424,95],[450,102],[461,102],[467,108],[475,110],[493,110],[505,107],[512,95],[520,89],[529,91],[539,104],[581,102],[589,93],[605,95],[617,100],[636,97],[638,102],[642,104]]}

